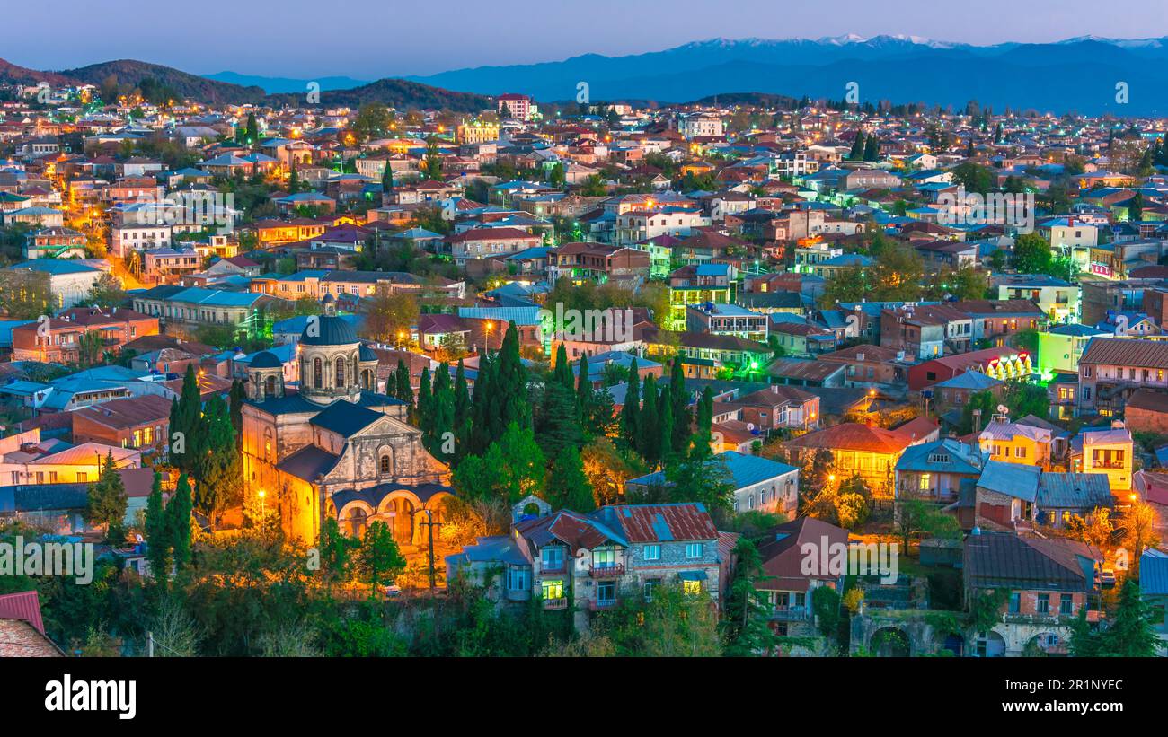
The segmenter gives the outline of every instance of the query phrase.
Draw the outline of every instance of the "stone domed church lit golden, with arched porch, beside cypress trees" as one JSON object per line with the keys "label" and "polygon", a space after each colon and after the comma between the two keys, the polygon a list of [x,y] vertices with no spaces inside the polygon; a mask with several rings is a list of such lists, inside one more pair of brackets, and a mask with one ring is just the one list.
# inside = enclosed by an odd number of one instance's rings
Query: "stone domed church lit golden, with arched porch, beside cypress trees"
{"label": "stone domed church lit golden, with arched porch, beside cypress trees", "polygon": [[[419,513],[440,521],[453,494],[449,468],[406,423],[406,405],[377,392],[377,356],[322,300],[300,335],[300,386],[285,387],[280,362],[258,353],[243,405],[244,494],[274,508],[290,540],[313,545],[325,519],[361,536],[381,520],[402,546],[418,545]],[[416,519],[418,518],[418,519]]]}

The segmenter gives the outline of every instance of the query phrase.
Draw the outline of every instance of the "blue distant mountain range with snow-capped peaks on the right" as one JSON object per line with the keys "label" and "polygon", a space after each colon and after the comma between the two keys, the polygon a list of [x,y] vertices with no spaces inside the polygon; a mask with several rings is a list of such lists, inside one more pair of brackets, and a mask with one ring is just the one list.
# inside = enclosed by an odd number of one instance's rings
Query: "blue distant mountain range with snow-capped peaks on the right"
{"label": "blue distant mountain range with snow-capped peaks on the right", "polygon": [[[569,100],[589,84],[595,101],[683,103],[729,92],[961,106],[1078,111],[1117,115],[1168,114],[1168,37],[1082,36],[1055,43],[972,45],[917,36],[834,36],[818,40],[712,38],[631,56],[586,54],[559,62],[478,66],[409,77],[481,94],[522,92]],[[1129,101],[1117,103],[1127,83]]]}

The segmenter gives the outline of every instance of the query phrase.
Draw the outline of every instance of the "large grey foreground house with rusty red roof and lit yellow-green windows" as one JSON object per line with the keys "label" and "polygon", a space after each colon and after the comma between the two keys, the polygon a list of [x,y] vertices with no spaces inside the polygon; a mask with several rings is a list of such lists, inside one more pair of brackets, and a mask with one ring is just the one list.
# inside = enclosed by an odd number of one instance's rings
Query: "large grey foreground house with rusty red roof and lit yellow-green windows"
{"label": "large grey foreground house with rusty red roof and lit yellow-green windows", "polygon": [[584,514],[552,512],[528,497],[513,511],[510,534],[479,538],[446,557],[449,581],[484,583],[501,568],[491,584],[499,602],[535,598],[551,610],[571,602],[577,629],[620,598],[651,597],[662,584],[718,598],[718,532],[701,504],[613,505]]}

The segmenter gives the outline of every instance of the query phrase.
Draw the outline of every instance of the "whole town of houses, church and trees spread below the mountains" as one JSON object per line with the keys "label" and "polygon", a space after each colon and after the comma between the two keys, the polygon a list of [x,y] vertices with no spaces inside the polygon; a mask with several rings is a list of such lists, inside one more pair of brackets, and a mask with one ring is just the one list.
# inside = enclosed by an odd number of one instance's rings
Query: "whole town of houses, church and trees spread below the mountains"
{"label": "whole town of houses, church and trees spread below the mountains", "polygon": [[96,66],[0,61],[0,655],[1168,657],[1168,118]]}

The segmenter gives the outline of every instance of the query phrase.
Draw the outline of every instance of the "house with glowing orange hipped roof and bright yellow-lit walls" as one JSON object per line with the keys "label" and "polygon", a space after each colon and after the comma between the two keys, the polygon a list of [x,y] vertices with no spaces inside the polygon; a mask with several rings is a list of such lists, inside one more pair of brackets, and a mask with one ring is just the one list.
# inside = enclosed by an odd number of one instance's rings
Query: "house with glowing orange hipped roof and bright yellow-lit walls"
{"label": "house with glowing orange hipped roof and bright yellow-lit walls", "polygon": [[806,463],[816,451],[827,450],[832,454],[835,475],[841,480],[856,473],[874,496],[892,498],[896,463],[911,444],[912,437],[895,430],[842,422],[788,440],[783,447],[797,463]]}

